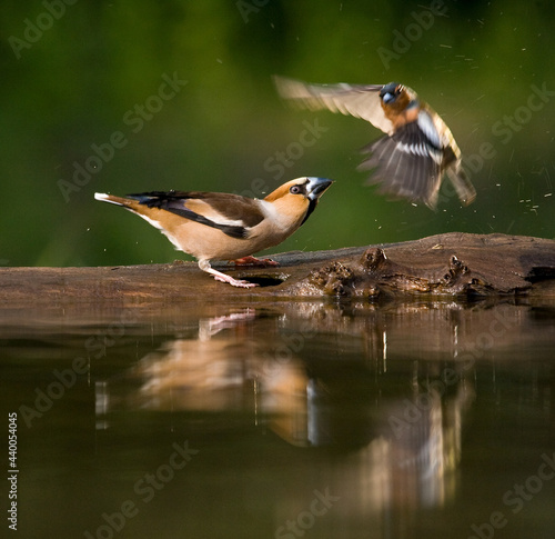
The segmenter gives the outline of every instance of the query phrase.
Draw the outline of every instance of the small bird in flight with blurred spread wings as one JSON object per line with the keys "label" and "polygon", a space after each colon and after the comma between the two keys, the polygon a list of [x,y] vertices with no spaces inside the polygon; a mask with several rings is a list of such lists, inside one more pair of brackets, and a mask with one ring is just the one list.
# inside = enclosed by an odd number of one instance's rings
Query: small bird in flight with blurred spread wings
{"label": "small bird in flight with blurred spread wings", "polygon": [[397,82],[329,86],[282,77],[274,81],[283,98],[301,107],[362,118],[387,133],[363,148],[370,157],[359,167],[375,169],[369,183],[381,182],[381,192],[435,208],[446,172],[463,204],[476,198],[450,128],[411,88]]}

